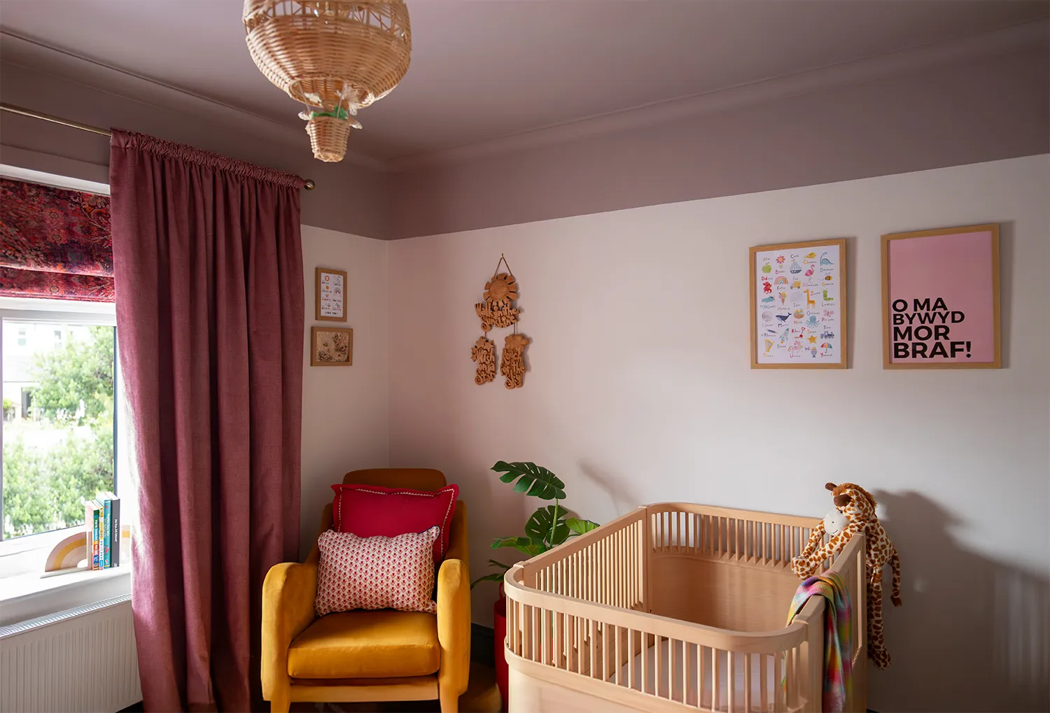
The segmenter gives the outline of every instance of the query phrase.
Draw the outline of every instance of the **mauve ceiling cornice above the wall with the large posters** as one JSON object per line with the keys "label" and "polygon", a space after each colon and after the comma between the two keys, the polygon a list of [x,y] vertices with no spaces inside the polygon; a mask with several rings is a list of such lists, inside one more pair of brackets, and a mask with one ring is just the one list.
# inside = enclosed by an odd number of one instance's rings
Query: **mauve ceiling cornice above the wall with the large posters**
{"label": "mauve ceiling cornice above the wall with the large posters", "polygon": [[981,35],[833,64],[795,75],[773,77],[440,151],[395,159],[387,162],[387,166],[388,170],[401,172],[420,167],[463,163],[872,82],[895,75],[1015,51],[1038,43],[1045,44],[1050,37],[1048,30],[1050,21],[1046,19],[1025,22]]}

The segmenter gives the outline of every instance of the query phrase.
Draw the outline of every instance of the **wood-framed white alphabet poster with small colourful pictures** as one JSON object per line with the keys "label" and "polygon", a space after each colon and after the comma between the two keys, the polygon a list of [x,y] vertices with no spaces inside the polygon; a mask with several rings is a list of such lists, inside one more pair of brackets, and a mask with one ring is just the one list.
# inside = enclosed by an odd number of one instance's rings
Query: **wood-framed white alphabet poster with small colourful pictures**
{"label": "wood-framed white alphabet poster with small colourful pictures", "polygon": [[751,248],[751,368],[846,368],[844,238]]}

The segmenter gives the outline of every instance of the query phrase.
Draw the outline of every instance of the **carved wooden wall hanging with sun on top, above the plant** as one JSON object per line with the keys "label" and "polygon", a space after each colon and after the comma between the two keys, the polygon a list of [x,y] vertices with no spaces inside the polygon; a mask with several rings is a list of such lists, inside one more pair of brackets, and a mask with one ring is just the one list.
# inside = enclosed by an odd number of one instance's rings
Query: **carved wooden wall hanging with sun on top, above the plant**
{"label": "carved wooden wall hanging with sun on top, above the plant", "polygon": [[[501,265],[506,266],[506,272],[500,272]],[[520,311],[514,307],[516,299],[518,299],[518,280],[514,278],[510,266],[507,265],[506,257],[500,255],[500,261],[496,264],[496,272],[485,282],[482,301],[474,306],[474,311],[481,319],[482,332],[488,333],[492,328],[513,327],[514,329],[513,334],[507,335],[504,340],[503,361],[500,362],[500,374],[506,377],[505,385],[507,389],[520,389],[524,383],[524,350],[531,341],[531,339],[518,334]],[[470,359],[478,363],[478,368],[475,370],[475,383],[480,385],[496,379],[496,342],[482,335],[470,348]]]}

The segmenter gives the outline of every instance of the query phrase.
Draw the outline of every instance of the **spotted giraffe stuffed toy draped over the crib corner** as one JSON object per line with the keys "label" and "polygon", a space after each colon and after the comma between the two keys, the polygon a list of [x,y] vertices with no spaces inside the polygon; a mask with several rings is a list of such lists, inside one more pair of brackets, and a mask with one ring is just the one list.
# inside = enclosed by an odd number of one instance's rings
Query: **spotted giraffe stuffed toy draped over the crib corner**
{"label": "spotted giraffe stuffed toy draped over the crib corner", "polygon": [[[888,564],[892,569],[891,599],[894,606],[899,607],[901,559],[876,517],[875,498],[870,492],[854,483],[827,483],[824,487],[832,491],[835,509],[813,530],[802,553],[792,560],[792,571],[800,580],[819,573],[825,560],[834,559],[841,552],[854,534],[864,532],[867,538],[867,551],[864,553],[867,568],[867,655],[876,668],[884,669],[889,666],[889,652],[882,634],[882,568]],[[831,540],[821,547],[825,532]]]}

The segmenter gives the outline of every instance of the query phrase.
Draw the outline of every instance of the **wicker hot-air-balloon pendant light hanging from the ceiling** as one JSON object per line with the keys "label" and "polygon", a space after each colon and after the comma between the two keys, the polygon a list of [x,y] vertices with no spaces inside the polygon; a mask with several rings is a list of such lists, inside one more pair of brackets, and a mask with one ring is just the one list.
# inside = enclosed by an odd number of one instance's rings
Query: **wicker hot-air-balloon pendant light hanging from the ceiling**
{"label": "wicker hot-air-balloon pendant light hanging from the ceiling", "polygon": [[412,28],[401,0],[245,0],[248,51],[262,75],[302,102],[314,158],[342,161],[357,110],[408,70]]}

